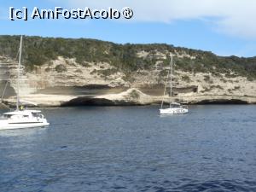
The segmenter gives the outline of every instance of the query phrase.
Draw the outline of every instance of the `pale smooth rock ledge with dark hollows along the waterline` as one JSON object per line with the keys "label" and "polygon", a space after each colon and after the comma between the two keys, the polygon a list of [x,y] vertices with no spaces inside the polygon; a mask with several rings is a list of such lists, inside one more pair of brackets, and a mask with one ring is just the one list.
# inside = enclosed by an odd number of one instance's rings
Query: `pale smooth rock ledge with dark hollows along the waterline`
{"label": "pale smooth rock ledge with dark hollows along the waterline", "polygon": [[[30,94],[22,96],[22,100],[36,102],[38,107],[70,107],[70,106],[134,106],[160,104],[162,99],[167,103],[168,96],[149,96],[135,88],[118,94],[101,96],[61,96],[46,94]],[[172,96],[172,102],[183,104],[256,104],[256,96],[223,96],[223,95],[195,95]],[[4,100],[9,106],[15,106],[15,96]]]}

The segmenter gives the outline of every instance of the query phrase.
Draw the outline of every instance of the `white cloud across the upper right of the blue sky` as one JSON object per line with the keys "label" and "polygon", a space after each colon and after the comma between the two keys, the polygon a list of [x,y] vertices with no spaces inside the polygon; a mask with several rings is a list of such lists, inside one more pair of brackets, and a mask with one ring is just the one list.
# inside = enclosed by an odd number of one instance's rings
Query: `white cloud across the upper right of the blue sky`
{"label": "white cloud across the upper right of the blue sky", "polygon": [[218,32],[256,39],[255,0],[68,0],[73,7],[121,9],[131,7],[134,20],[172,22],[211,20]]}

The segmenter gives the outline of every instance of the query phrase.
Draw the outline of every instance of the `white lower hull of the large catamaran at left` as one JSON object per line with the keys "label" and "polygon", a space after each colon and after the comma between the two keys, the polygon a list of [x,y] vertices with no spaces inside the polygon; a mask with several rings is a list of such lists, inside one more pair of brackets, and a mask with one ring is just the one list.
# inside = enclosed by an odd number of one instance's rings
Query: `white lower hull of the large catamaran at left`
{"label": "white lower hull of the large catamaran at left", "polygon": [[22,123],[22,124],[9,124],[0,123],[0,130],[14,130],[14,129],[25,129],[25,128],[36,128],[48,126],[49,123]]}

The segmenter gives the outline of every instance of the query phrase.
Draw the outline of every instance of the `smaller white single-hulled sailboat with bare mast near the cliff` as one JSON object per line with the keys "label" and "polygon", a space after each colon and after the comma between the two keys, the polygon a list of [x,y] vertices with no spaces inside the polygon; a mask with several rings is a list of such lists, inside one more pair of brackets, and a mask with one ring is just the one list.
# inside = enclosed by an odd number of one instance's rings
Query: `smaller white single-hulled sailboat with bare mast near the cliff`
{"label": "smaller white single-hulled sailboat with bare mast near the cliff", "polygon": [[[188,113],[189,109],[186,106],[183,106],[182,104],[180,104],[178,102],[172,102],[172,68],[173,68],[173,63],[172,63],[172,55],[171,55],[170,69],[167,74],[166,86],[165,86],[165,90],[164,90],[163,100],[161,102],[160,114]],[[170,93],[169,93],[170,104],[169,104],[169,108],[163,108],[164,107],[164,97],[166,96],[166,88],[168,85],[168,81],[170,84]]]}

